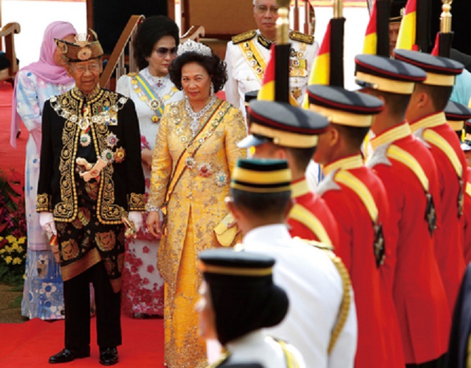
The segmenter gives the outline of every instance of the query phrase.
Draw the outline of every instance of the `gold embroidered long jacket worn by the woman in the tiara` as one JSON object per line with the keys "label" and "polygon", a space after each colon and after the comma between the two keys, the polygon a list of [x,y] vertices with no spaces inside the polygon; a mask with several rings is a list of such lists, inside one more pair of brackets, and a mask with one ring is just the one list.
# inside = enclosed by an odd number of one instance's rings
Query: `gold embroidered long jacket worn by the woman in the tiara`
{"label": "gold embroidered long jacket worn by the woman in the tiara", "polygon": [[[229,212],[224,199],[229,194],[231,172],[237,159],[246,156],[245,149],[237,148],[247,134],[239,109],[218,99],[215,107],[203,115],[200,127],[206,121],[200,138],[194,141],[185,101],[169,103],[156,138],[148,209],[164,204],[170,177],[180,165],[182,153],[186,149],[194,152],[184,163],[186,168],[167,203],[167,229],[158,249],[158,269],[171,287],[177,277],[189,221],[193,224],[196,255],[217,246],[213,229]],[[195,146],[199,146],[197,151]]]}

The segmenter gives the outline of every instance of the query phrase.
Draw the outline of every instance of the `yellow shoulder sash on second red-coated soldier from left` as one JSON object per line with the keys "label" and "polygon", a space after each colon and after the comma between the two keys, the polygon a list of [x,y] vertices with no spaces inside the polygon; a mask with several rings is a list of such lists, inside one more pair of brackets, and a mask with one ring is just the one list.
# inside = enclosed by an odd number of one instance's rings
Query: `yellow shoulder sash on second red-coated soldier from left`
{"label": "yellow shoulder sash on second red-coated soldier from left", "polygon": [[379,267],[384,263],[384,236],[382,231],[382,224],[378,224],[378,208],[375,203],[375,199],[371,195],[368,188],[361,182],[358,177],[351,174],[346,170],[339,170],[335,175],[335,181],[344,186],[347,186],[356,193],[360,201],[365,205],[368,214],[370,215],[373,229],[375,230],[375,241],[373,242],[373,252],[375,253],[376,266]]}

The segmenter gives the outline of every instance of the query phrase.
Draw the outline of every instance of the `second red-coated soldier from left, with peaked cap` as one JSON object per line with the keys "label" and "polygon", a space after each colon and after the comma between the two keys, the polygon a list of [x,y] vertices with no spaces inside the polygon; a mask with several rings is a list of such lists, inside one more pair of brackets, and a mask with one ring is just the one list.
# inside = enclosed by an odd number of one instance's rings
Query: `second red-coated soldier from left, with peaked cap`
{"label": "second red-coated soldier from left, with peaked cap", "polygon": [[[401,334],[390,286],[382,279],[394,229],[381,180],[363,165],[360,145],[383,103],[341,87],[308,86],[309,109],[330,124],[319,137],[314,160],[324,165],[318,193],[339,225],[336,253],[355,291],[358,348],[355,367],[403,367]],[[391,245],[391,243],[393,243]]]}

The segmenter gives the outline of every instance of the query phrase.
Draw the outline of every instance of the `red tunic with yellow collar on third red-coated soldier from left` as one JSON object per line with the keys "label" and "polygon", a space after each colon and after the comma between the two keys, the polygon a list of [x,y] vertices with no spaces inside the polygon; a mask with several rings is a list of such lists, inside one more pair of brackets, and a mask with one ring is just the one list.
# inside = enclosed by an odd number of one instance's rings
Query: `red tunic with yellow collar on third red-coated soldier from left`
{"label": "red tunic with yellow collar on third red-coated soldier from left", "polygon": [[[389,219],[398,229],[393,298],[404,358],[406,364],[420,364],[446,353],[451,326],[426,218],[426,194],[439,200],[437,167],[406,122],[379,134],[371,145],[374,151],[367,165],[382,179],[389,198]],[[410,157],[415,158],[415,167],[410,165]],[[420,170],[427,191],[416,175]]]}

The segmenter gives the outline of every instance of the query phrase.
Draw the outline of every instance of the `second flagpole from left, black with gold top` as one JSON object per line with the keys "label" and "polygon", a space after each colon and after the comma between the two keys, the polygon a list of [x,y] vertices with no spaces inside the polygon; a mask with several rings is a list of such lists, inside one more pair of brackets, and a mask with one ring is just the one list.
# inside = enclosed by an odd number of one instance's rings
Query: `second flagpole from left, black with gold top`
{"label": "second flagpole from left, black with gold top", "polygon": [[333,0],[334,18],[330,20],[329,84],[344,87],[344,1]]}

